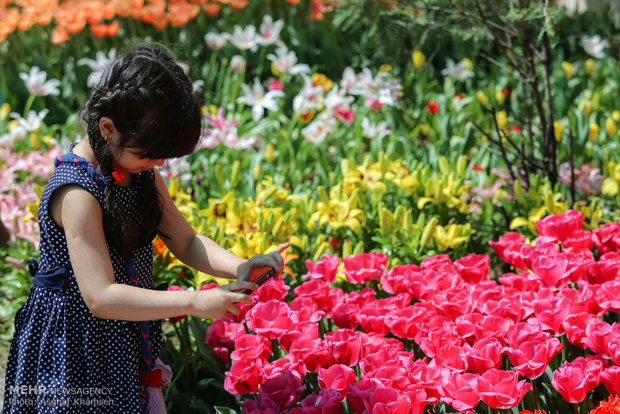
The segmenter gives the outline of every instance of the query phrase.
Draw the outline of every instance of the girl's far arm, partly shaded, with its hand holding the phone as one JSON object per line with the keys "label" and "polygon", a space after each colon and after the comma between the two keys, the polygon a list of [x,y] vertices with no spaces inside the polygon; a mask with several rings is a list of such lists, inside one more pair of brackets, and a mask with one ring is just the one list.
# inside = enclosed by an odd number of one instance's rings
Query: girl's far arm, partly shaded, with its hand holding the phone
{"label": "girl's far arm, partly shaded, with its hand holding the phone", "polygon": [[[282,271],[284,262],[278,252],[254,256],[246,261],[224,249],[208,237],[196,233],[176,207],[161,175],[155,171],[155,185],[163,200],[163,214],[158,230],[174,256],[201,272],[228,279],[250,280],[250,273],[273,268]],[[280,250],[282,251],[282,250]]]}

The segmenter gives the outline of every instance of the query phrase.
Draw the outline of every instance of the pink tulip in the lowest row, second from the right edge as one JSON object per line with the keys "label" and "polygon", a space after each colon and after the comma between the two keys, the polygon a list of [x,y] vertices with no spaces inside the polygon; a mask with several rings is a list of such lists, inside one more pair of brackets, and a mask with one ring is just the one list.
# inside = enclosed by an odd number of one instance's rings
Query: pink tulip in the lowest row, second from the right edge
{"label": "pink tulip in the lowest row, second from the right edge", "polygon": [[588,391],[601,382],[600,374],[604,368],[603,360],[588,356],[579,357],[564,364],[553,372],[551,384],[564,400],[576,404],[586,398]]}

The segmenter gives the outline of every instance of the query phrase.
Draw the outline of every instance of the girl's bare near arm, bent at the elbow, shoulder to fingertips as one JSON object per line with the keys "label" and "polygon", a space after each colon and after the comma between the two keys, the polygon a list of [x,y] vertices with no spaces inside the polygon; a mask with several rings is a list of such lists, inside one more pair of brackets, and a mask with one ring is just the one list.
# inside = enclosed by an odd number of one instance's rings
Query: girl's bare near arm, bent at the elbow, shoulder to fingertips
{"label": "girl's bare near arm, bent at the elbow, shoulder to fingertips", "polygon": [[252,301],[250,296],[235,292],[256,288],[249,282],[197,292],[156,291],[117,284],[97,200],[81,187],[70,185],[57,190],[51,203],[50,211],[65,231],[80,293],[99,318],[139,321],[192,314],[214,319],[239,313],[235,303]]}

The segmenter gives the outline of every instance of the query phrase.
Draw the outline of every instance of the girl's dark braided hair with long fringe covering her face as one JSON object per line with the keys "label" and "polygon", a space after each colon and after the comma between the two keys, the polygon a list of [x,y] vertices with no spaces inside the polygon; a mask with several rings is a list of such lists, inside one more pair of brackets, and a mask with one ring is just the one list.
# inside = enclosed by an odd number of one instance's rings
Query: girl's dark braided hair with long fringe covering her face
{"label": "girl's dark braided hair with long fringe covering her face", "polygon": [[[200,103],[192,82],[163,45],[138,45],[117,57],[103,72],[91,91],[80,117],[99,168],[112,175],[112,149],[99,130],[99,121],[108,117],[120,134],[118,146],[139,148],[140,155],[152,159],[181,157],[194,150],[200,139]],[[136,222],[124,211],[106,187],[103,209],[108,243],[123,256],[149,242],[162,215],[162,200],[149,174],[135,176],[143,189],[143,215]]]}

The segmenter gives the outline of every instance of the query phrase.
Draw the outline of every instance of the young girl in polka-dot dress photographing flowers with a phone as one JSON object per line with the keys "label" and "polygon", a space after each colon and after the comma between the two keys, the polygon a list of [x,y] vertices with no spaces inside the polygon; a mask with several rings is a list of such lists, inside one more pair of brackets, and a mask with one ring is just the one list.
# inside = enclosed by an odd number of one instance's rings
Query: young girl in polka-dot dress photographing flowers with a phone
{"label": "young girl in polka-dot dress photographing flowers with a phone", "polygon": [[[161,399],[166,374],[159,320],[237,314],[251,274],[282,271],[285,246],[245,261],[196,234],[154,168],[196,147],[200,109],[161,45],[117,58],[92,90],[80,112],[87,136],[58,157],[41,198],[40,262],[29,263],[34,286],[15,317],[5,413],[152,412],[144,395]],[[186,265],[238,281],[153,290],[155,234]]]}

